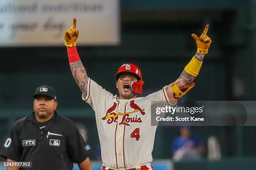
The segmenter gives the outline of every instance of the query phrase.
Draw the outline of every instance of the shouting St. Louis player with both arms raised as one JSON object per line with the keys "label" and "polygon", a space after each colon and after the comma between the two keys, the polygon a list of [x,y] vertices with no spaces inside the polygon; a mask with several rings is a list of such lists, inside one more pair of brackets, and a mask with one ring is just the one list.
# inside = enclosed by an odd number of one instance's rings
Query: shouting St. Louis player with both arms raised
{"label": "shouting St. Louis player with both arms raised", "polygon": [[193,80],[211,44],[210,37],[206,35],[208,27],[205,26],[200,37],[192,34],[197,52],[175,82],[146,97],[137,97],[142,93],[144,84],[142,74],[136,65],[127,63],[115,74],[118,96],[87,76],[76,49],[79,31],[74,18],[73,26],[64,33],[65,45],[72,75],[82,91],[82,99],[95,111],[102,149],[102,170],[153,169],[150,163],[156,126],[151,126],[151,101],[174,105],[177,99],[195,86]]}

